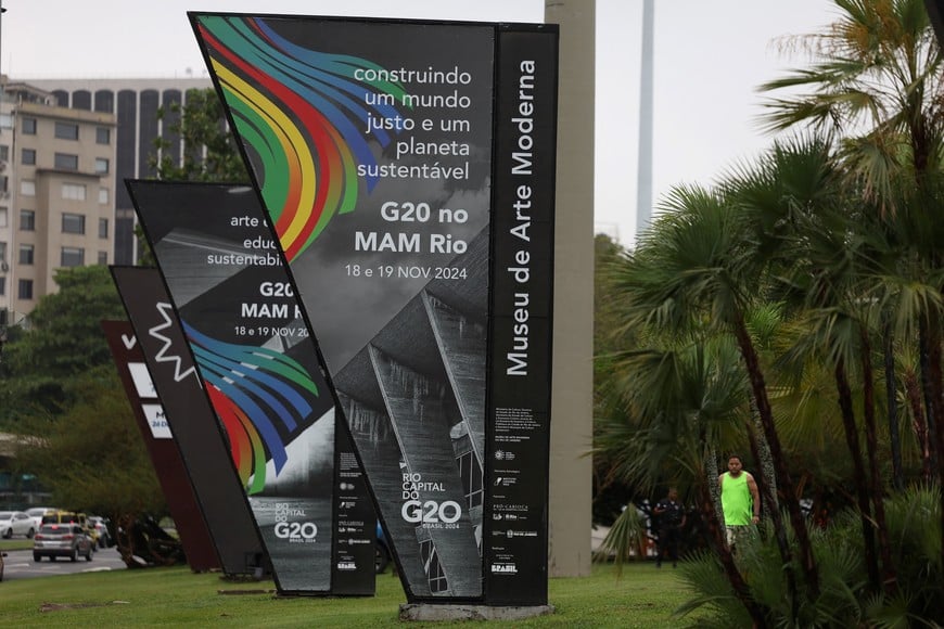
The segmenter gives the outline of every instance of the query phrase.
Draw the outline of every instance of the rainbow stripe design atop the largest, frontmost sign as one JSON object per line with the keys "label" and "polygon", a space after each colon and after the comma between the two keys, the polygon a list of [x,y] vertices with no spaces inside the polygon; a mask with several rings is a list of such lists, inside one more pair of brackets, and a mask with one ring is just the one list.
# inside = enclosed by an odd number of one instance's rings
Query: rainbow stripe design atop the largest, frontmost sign
{"label": "rainbow stripe design atop the largest, frontmost sign", "polygon": [[[357,69],[381,68],[299,47],[266,18],[201,16],[196,28],[237,130],[256,157],[263,201],[291,262],[332,217],[355,208],[357,166],[377,163],[361,131],[368,114],[398,115],[387,101],[403,102],[404,89],[355,79]],[[371,136],[381,146],[392,141],[381,130]],[[377,178],[366,181],[370,192]]]}

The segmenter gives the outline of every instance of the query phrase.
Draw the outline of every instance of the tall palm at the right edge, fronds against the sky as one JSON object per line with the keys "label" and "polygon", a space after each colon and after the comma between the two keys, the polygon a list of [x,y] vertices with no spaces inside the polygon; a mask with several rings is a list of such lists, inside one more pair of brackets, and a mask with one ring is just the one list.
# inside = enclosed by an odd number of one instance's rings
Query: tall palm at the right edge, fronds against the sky
{"label": "tall palm at the right edge, fronds against the sky", "polygon": [[[893,334],[911,342],[918,331],[923,398],[930,434],[929,457],[944,485],[944,311],[941,291],[944,266],[940,242],[942,169],[944,169],[944,74],[941,48],[922,0],[833,0],[835,22],[824,33],[799,40],[812,52],[809,67],[761,87],[768,92],[790,90],[771,99],[765,120],[770,129],[795,126],[826,130],[839,141],[839,159],[850,180],[849,196],[858,198],[862,218],[881,227],[873,230],[879,251],[870,280],[884,288],[878,295],[882,314],[879,346],[883,364],[894,364]],[[798,93],[799,92],[799,93]],[[868,207],[871,205],[872,207]],[[870,210],[870,211],[869,211]],[[873,216],[868,216],[872,214]],[[882,240],[884,242],[882,242]],[[882,246],[891,245],[891,246]],[[915,271],[918,271],[917,273]],[[917,275],[917,277],[916,277]],[[916,282],[917,280],[917,282]],[[915,291],[915,284],[920,286]],[[893,326],[892,322],[896,322]],[[869,331],[859,339],[870,344]],[[859,359],[868,360],[863,348]],[[862,368],[869,369],[865,362]],[[871,383],[867,384],[871,387]],[[894,380],[886,378],[888,398],[895,399]],[[872,500],[881,519],[881,496],[876,477],[873,426],[866,403],[867,451],[870,458]],[[897,407],[889,405],[889,432],[897,433]],[[893,448],[898,448],[892,441]],[[896,464],[900,453],[893,451]],[[901,486],[901,467],[894,471]],[[944,493],[942,501],[944,501]],[[944,502],[940,509],[944,518]],[[880,536],[883,526],[878,522]],[[942,521],[944,524],[944,521]],[[942,526],[944,531],[944,526]],[[944,535],[944,532],[942,532]],[[885,569],[888,540],[881,540]],[[944,539],[941,544],[944,563]],[[890,575],[886,574],[886,578]]]}

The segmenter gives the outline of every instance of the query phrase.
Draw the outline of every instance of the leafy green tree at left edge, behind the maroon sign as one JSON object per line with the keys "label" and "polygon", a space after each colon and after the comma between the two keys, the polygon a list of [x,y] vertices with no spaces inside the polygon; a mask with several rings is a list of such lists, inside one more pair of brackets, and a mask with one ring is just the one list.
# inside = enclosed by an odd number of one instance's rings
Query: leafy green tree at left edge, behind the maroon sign
{"label": "leafy green tree at left edge, behind the maroon sign", "polygon": [[119,523],[128,565],[135,555],[176,561],[175,544],[162,541],[155,554],[138,532],[167,508],[101,330],[103,319],[125,317],[111,274],[63,268],[55,281],[59,292],[40,298],[4,346],[0,412],[23,436],[16,465],[60,505]]}

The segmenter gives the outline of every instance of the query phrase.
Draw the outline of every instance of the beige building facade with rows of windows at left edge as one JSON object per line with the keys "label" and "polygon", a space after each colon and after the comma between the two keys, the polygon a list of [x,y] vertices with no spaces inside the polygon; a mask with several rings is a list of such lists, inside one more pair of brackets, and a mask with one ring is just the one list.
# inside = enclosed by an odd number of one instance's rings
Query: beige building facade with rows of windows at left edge
{"label": "beige building facade with rows of windows at left edge", "polygon": [[0,123],[0,324],[56,291],[55,270],[110,264],[115,118],[5,82]]}

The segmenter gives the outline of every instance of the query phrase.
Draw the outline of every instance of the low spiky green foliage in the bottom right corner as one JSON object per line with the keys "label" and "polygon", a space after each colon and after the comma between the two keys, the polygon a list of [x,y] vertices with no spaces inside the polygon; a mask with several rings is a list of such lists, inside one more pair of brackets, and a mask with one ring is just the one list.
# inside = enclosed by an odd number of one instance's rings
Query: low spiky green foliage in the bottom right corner
{"label": "low spiky green foliage in the bottom right corner", "polygon": [[[911,488],[886,503],[893,550],[900,560],[907,557],[907,562],[898,564],[902,569],[894,594],[869,593],[858,516],[853,511],[843,512],[826,528],[813,531],[821,587],[815,600],[791,601],[783,595],[786,572],[771,537],[756,535],[740,541],[736,554],[738,567],[752,595],[769,609],[769,625],[891,628],[933,626],[932,621],[944,618],[941,599],[944,573],[937,560],[941,539],[937,491],[937,488]],[[679,572],[697,591],[683,609],[711,609],[701,626],[750,626],[743,605],[712,554],[691,557]]]}

